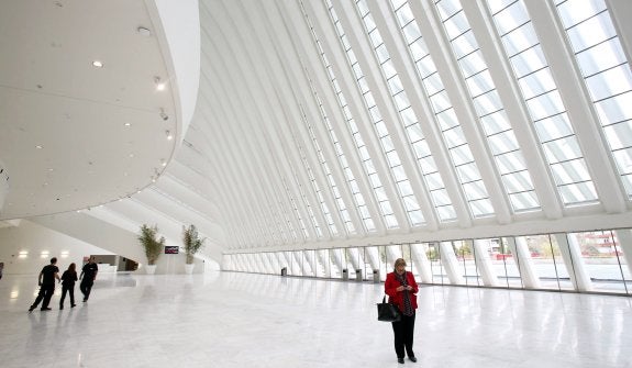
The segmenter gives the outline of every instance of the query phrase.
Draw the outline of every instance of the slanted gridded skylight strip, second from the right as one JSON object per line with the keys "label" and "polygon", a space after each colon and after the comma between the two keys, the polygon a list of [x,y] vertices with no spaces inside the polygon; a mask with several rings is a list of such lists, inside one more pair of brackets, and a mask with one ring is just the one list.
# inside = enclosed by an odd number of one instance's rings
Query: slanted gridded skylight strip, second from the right
{"label": "slanted gridded skylight strip, second from the right", "polygon": [[487,3],[563,203],[595,202],[592,179],[523,1]]}

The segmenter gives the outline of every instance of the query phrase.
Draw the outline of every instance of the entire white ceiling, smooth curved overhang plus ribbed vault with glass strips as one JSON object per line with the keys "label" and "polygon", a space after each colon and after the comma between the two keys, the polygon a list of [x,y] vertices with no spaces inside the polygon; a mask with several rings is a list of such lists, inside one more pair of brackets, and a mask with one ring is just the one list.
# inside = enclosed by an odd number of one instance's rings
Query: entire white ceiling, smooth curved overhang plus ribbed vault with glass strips
{"label": "entire white ceiling, smooth curved overhang plus ribbed vault with glass strips", "polygon": [[1,219],[192,223],[218,261],[632,224],[624,0],[201,0],[178,23],[199,25],[199,89],[160,3],[2,4]]}

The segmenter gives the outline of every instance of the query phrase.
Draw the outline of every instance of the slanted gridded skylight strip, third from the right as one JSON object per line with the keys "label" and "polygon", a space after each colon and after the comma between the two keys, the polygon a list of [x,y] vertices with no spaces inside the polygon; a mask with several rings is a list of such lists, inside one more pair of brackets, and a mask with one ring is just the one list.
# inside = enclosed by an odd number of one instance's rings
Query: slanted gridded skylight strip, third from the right
{"label": "slanted gridded skylight strip, third from the right", "polygon": [[436,5],[513,211],[540,209],[524,157],[461,3],[443,0]]}

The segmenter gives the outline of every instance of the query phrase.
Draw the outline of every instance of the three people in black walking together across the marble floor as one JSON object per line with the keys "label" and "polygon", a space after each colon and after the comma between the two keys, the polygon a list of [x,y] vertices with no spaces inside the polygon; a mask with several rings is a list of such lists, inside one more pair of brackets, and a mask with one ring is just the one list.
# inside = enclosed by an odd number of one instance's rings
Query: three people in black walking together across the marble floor
{"label": "three people in black walking together across the marble floor", "polygon": [[37,283],[40,285],[40,292],[37,298],[31,306],[29,308],[29,313],[33,312],[42,302],[41,311],[49,311],[51,299],[53,293],[55,293],[55,280],[62,283],[62,299],[59,300],[59,309],[64,309],[64,300],[66,299],[66,293],[70,295],[70,308],[75,304],[75,282],[81,280],[79,285],[79,290],[84,294],[84,302],[88,301],[90,297],[90,291],[97,279],[97,272],[99,271],[99,266],[95,263],[95,257],[90,257],[88,263],[81,268],[81,274],[77,277],[77,266],[73,263],[68,266],[68,269],[64,271],[62,277],[59,277],[59,268],[57,268],[57,258],[51,258],[51,264],[44,266],[40,276],[37,277]]}

